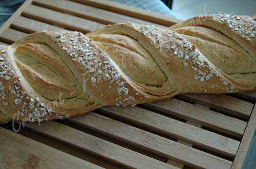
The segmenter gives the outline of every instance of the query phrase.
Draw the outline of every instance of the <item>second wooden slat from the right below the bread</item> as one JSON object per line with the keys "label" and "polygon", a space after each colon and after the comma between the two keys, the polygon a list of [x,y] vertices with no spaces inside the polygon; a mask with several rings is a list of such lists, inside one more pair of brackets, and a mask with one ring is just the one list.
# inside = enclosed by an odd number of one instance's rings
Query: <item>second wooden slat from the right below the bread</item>
{"label": "second wooden slat from the right below the bread", "polygon": [[165,114],[196,122],[197,124],[201,124],[205,127],[237,137],[243,136],[247,124],[242,120],[232,118],[209,109],[202,109],[194,104],[174,98],[146,103],[144,105],[151,110],[161,111]]}

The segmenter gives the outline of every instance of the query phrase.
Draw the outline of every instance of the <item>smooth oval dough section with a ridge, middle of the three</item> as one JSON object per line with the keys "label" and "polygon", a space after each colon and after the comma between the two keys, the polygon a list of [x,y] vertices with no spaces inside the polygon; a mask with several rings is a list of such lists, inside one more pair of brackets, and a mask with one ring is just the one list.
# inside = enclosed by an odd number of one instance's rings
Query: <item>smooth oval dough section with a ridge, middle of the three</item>
{"label": "smooth oval dough section with a ridge, middle of the three", "polygon": [[[117,34],[90,36],[90,39],[106,51],[133,81],[152,87],[161,87],[167,81],[167,77],[155,63],[152,55],[136,40]],[[141,73],[130,71],[131,69],[136,69]]]}

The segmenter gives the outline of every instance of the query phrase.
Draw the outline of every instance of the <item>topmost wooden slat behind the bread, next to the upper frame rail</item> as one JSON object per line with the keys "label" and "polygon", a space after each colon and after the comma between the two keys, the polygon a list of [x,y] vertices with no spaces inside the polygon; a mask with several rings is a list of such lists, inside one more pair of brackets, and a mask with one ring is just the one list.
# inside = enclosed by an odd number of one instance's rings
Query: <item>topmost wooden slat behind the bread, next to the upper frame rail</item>
{"label": "topmost wooden slat behind the bread, next to the upper frame rail", "polygon": [[131,21],[140,24],[153,24],[158,27],[166,27],[152,22],[132,18],[129,16],[117,14],[110,11],[90,7],[87,5],[81,5],[79,3],[66,1],[66,0],[35,0],[33,4],[53,9],[59,12],[68,13],[85,19],[93,20],[103,24],[114,24],[120,22]]}

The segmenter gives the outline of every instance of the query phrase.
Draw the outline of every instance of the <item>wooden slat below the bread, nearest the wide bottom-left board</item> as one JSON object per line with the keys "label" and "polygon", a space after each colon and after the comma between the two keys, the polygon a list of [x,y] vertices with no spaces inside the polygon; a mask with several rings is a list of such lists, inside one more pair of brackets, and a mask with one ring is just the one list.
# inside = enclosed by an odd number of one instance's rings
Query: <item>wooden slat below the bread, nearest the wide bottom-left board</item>
{"label": "wooden slat below the bread, nearest the wide bottom-left board", "polygon": [[26,123],[26,127],[55,137],[63,142],[71,143],[84,150],[96,153],[110,160],[122,163],[134,168],[174,168],[172,165],[158,161],[154,158],[123,148],[106,140],[73,129],[66,125],[49,121],[38,123]]}

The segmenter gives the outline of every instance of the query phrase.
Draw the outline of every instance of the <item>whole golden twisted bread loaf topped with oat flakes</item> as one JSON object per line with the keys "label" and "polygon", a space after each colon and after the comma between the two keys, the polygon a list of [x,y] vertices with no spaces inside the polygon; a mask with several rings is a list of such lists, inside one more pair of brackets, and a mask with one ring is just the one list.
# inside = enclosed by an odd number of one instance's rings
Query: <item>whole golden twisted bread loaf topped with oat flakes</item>
{"label": "whole golden twisted bread loaf topped with oat flakes", "polygon": [[207,15],[169,29],[136,23],[41,32],[0,46],[0,123],[77,116],[105,105],[256,85],[256,24]]}

